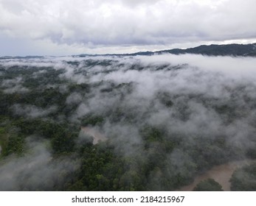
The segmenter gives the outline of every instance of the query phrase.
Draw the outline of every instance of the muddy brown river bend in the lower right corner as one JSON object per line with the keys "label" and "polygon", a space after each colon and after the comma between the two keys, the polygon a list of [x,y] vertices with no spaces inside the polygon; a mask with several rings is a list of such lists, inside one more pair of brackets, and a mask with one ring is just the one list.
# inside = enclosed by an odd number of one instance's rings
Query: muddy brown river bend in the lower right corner
{"label": "muddy brown river bend in the lower right corner", "polygon": [[178,191],[193,191],[193,188],[196,187],[198,182],[200,182],[201,180],[206,180],[208,178],[212,178],[216,182],[220,183],[224,191],[230,191],[229,180],[232,177],[233,172],[237,168],[241,168],[242,166],[246,166],[249,165],[250,163],[255,162],[256,160],[239,160],[226,163],[220,166],[214,166],[210,170],[206,171],[204,174],[198,175],[193,183],[180,188]]}

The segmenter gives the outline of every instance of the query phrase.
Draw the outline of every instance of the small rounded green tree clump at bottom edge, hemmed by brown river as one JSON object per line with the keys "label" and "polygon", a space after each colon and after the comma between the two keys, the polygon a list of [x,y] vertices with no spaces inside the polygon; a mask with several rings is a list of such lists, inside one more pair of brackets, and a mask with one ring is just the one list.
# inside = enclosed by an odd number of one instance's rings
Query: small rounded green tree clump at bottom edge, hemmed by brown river
{"label": "small rounded green tree clump at bottom edge, hemmed by brown river", "polygon": [[222,186],[213,179],[202,180],[193,191],[223,191]]}

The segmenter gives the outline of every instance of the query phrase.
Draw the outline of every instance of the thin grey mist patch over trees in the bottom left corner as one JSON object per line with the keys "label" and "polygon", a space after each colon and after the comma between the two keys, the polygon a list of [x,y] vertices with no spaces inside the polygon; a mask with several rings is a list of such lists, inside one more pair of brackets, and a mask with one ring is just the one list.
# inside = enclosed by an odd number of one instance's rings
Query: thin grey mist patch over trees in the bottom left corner
{"label": "thin grey mist patch over trees in the bottom left corner", "polygon": [[22,157],[7,157],[0,165],[0,191],[52,191],[61,189],[67,174],[79,163],[72,157],[53,158],[46,142],[27,138],[30,152]]}

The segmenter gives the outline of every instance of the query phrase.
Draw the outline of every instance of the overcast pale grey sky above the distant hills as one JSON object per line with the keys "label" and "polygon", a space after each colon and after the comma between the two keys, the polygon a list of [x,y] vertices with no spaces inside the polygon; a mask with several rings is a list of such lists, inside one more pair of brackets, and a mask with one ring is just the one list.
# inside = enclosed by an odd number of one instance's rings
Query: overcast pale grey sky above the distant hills
{"label": "overcast pale grey sky above the distant hills", "polygon": [[0,56],[256,42],[255,0],[0,0]]}

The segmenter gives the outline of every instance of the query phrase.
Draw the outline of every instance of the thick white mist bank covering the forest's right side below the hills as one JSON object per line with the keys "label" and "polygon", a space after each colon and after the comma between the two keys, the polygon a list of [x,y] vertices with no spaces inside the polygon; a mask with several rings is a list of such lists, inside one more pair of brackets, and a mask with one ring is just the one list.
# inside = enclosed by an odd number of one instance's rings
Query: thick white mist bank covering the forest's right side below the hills
{"label": "thick white mist bank covering the forest's right side below the hills", "polygon": [[[182,137],[180,141],[189,148],[199,140],[223,137],[229,149],[239,148],[243,156],[255,145],[255,58],[162,54],[78,61],[74,66],[80,69],[77,76],[63,78],[86,79],[91,88],[86,98],[78,98],[81,102],[72,121],[89,113],[103,116],[101,132],[125,155],[143,150],[139,129],[147,124],[163,129],[166,139]],[[228,156],[220,148],[212,149]],[[190,156],[181,153],[181,157]]]}

